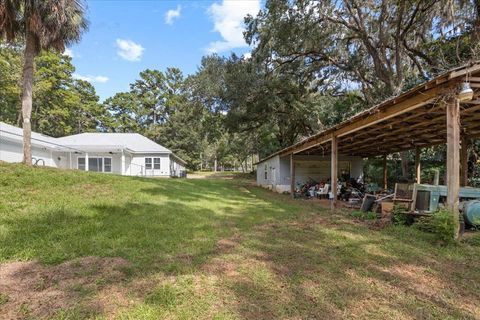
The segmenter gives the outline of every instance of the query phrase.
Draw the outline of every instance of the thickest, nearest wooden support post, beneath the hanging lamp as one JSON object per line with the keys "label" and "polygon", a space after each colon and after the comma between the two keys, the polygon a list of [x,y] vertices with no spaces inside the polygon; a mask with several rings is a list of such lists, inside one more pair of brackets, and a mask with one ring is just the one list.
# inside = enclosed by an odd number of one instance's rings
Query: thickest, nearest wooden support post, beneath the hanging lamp
{"label": "thickest, nearest wooden support post, beneath the hanging lamp", "polygon": [[460,193],[460,102],[455,98],[447,101],[447,207],[453,212],[454,238],[459,237]]}

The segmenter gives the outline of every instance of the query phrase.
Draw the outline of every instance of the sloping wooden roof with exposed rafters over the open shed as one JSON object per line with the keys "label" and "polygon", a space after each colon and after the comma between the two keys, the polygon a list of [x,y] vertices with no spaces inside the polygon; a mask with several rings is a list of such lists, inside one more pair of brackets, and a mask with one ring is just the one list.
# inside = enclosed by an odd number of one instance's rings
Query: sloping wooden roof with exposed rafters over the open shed
{"label": "sloping wooden roof with exposed rafters over the open shed", "polygon": [[[480,62],[457,67],[396,97],[358,113],[336,126],[303,139],[257,162],[289,154],[329,154],[330,141],[339,138],[339,153],[375,156],[444,143],[446,113],[443,101],[462,81],[480,88]],[[462,129],[470,137],[480,135],[478,91],[462,104]]]}

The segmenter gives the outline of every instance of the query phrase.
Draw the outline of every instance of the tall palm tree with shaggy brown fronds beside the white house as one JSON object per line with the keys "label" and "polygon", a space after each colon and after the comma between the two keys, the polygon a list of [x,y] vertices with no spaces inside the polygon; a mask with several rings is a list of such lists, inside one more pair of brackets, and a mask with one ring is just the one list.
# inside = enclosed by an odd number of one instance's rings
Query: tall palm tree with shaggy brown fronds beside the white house
{"label": "tall palm tree with shaggy brown fronds beside the white house", "polygon": [[87,28],[83,0],[0,0],[0,40],[25,43],[22,80],[23,162],[32,164],[31,123],[34,59],[78,42]]}

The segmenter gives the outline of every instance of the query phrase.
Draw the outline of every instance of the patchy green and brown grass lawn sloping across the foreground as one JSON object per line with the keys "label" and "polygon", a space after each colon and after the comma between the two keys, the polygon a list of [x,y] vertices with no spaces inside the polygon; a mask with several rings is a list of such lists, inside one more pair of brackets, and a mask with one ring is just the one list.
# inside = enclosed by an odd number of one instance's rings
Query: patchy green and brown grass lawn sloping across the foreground
{"label": "patchy green and brown grass lawn sloping across the foreground", "polygon": [[218,177],[0,164],[0,198],[0,318],[480,318],[478,236],[440,246]]}

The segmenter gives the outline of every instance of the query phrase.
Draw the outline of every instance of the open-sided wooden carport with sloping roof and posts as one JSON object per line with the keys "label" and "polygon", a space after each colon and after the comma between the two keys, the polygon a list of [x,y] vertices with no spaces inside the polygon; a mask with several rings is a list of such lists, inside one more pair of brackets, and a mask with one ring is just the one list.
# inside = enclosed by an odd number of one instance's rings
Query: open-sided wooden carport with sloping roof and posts
{"label": "open-sided wooden carport with sloping roof and posts", "polygon": [[[446,144],[447,206],[458,212],[459,188],[467,184],[468,142],[480,135],[477,88],[480,64],[459,67],[274,155],[290,157],[293,194],[298,155],[330,157],[332,190],[336,190],[339,157],[386,159],[391,153],[416,150],[416,180],[420,182],[421,149]],[[332,202],[335,206],[337,199]]]}

